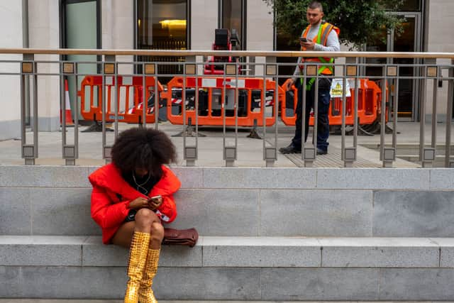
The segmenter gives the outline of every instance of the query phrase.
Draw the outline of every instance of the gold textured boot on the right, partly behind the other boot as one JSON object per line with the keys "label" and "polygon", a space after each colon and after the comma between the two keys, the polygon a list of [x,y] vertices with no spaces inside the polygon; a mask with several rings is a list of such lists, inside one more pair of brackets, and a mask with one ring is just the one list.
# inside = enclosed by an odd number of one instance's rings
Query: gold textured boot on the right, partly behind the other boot
{"label": "gold textured boot on the right, partly behind the other boot", "polygon": [[157,303],[155,294],[151,289],[153,278],[157,272],[157,263],[159,262],[160,249],[149,249],[145,270],[142,281],[140,281],[139,302],[140,303]]}

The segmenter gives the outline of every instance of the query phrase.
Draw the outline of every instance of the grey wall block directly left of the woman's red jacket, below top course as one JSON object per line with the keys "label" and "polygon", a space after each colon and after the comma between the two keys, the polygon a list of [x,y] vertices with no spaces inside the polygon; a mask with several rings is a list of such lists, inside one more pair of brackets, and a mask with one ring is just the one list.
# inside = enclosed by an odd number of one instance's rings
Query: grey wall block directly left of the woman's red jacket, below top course
{"label": "grey wall block directly left of the woman's red jacket, below top course", "polygon": [[90,214],[91,189],[27,190],[31,191],[33,197],[31,203],[34,235],[101,234],[101,228],[96,225]]}

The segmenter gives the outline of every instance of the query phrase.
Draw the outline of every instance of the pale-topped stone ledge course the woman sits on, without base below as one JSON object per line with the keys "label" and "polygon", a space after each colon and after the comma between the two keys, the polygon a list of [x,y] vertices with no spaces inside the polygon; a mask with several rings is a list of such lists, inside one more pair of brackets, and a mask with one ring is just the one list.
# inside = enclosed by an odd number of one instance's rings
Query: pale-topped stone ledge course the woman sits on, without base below
{"label": "pale-topped stone ledge course the woman sits on, without base below", "polygon": [[[99,236],[0,236],[0,266],[126,266],[128,251]],[[454,238],[200,236],[163,246],[163,267],[454,268]]]}

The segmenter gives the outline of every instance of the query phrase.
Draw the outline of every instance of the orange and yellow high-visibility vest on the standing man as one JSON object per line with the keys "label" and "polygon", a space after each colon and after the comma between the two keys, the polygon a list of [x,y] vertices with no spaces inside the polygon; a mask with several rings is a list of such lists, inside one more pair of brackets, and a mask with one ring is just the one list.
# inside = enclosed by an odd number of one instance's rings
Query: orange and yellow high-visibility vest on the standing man
{"label": "orange and yellow high-visibility vest on the standing man", "polygon": [[[311,29],[311,25],[306,27],[306,29],[303,32],[302,37],[306,38],[307,33],[309,33],[309,30]],[[326,41],[328,40],[328,35],[331,33],[331,31],[336,31],[336,33],[339,35],[341,33],[341,30],[337,28],[336,26],[333,26],[330,23],[327,22],[322,22],[320,27],[319,27],[319,33],[312,39],[314,43],[321,44],[323,46],[326,46]],[[301,46],[301,50],[304,51],[306,48]],[[332,64],[334,62],[334,58],[332,57],[303,57],[301,58],[301,62],[321,62],[321,63],[330,63]],[[301,70],[304,68],[304,65],[300,65],[299,68]],[[319,68],[318,71],[319,74],[322,75],[333,75],[333,65],[323,65]]]}

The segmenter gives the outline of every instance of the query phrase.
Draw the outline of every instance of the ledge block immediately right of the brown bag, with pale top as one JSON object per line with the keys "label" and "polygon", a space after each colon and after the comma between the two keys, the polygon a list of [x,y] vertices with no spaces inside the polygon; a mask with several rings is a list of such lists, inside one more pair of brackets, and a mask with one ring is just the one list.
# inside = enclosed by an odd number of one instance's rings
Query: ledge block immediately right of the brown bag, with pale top
{"label": "ledge block immediately right of the brown bag, with pale top", "polygon": [[206,267],[319,267],[314,238],[204,237]]}

